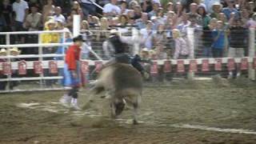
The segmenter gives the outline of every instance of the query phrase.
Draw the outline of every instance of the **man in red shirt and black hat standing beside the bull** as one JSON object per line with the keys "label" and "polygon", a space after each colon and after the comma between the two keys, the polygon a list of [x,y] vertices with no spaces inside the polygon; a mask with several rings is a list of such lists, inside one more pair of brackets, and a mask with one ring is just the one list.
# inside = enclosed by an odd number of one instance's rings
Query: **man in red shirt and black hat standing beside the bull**
{"label": "man in red shirt and black hat standing beside the bull", "polygon": [[80,74],[80,55],[82,49],[82,43],[84,42],[82,35],[78,35],[73,38],[74,44],[71,45],[66,51],[66,65],[70,72],[71,90],[60,99],[63,106],[71,106],[74,110],[81,110],[78,106],[78,89],[81,86],[81,74]]}

